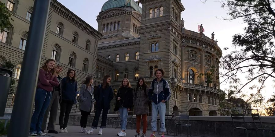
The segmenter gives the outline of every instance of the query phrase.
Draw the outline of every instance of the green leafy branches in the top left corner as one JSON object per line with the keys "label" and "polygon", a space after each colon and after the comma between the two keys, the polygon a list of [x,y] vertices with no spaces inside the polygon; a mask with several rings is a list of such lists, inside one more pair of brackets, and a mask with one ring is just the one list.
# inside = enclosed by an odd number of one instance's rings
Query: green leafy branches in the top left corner
{"label": "green leafy branches in the top left corner", "polygon": [[0,33],[2,33],[5,28],[9,27],[10,21],[13,21],[11,12],[5,6],[5,3],[0,2]]}

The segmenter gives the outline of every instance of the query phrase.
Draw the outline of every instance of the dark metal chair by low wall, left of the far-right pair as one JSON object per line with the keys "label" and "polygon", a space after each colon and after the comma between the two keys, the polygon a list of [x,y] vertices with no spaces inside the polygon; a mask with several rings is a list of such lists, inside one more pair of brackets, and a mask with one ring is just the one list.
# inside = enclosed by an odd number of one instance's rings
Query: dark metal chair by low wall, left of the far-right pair
{"label": "dark metal chair by low wall, left of the far-right pair", "polygon": [[[234,133],[235,133],[235,129],[243,129],[244,130],[244,132],[245,132],[245,134],[246,134],[246,137],[248,137],[248,130],[250,130],[250,131],[256,131],[256,129],[255,128],[248,128],[248,127],[246,127],[247,125],[246,125],[246,123],[245,123],[245,121],[244,121],[244,114],[231,114],[231,118],[232,118],[232,121],[233,121],[233,125],[234,125],[234,128],[233,128],[233,136],[234,136]],[[242,122],[244,125],[244,127],[237,127],[236,125],[235,125],[235,122]],[[257,134],[256,134],[256,136],[257,136]]]}

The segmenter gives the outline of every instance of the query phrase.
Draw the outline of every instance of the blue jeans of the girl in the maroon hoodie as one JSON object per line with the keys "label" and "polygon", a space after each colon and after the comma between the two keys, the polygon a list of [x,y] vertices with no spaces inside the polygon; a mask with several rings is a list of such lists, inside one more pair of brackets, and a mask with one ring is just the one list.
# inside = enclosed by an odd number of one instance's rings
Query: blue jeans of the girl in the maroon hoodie
{"label": "blue jeans of the girl in the maroon hoodie", "polygon": [[52,92],[43,89],[37,89],[35,93],[35,111],[31,117],[31,133],[41,132],[41,125],[44,113],[49,107]]}

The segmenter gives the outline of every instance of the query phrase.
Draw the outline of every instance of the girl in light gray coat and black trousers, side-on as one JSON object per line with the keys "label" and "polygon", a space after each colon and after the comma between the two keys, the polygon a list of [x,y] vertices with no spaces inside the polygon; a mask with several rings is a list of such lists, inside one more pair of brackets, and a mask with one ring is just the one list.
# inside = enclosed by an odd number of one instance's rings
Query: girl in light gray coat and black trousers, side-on
{"label": "girl in light gray coat and black trousers, side-on", "polygon": [[92,86],[93,78],[88,76],[80,88],[79,92],[79,109],[81,112],[80,119],[80,133],[87,133],[86,125],[88,120],[88,115],[91,111],[94,111],[94,87]]}

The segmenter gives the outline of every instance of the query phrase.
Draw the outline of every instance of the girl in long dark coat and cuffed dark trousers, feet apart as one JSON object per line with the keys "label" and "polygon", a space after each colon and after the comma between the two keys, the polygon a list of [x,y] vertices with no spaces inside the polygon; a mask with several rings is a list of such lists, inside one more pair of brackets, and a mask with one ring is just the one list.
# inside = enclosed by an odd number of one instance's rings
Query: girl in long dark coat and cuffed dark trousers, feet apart
{"label": "girl in long dark coat and cuffed dark trousers, feet apart", "polygon": [[94,98],[97,102],[96,104],[96,113],[94,115],[94,120],[92,124],[92,129],[87,132],[87,134],[93,134],[94,128],[97,128],[98,120],[102,111],[102,121],[98,135],[102,135],[102,129],[106,128],[106,120],[108,110],[110,109],[110,102],[114,98],[113,89],[110,85],[111,76],[106,75],[102,80],[102,84],[97,86],[97,91],[94,92]]}

